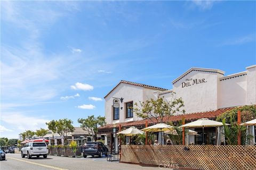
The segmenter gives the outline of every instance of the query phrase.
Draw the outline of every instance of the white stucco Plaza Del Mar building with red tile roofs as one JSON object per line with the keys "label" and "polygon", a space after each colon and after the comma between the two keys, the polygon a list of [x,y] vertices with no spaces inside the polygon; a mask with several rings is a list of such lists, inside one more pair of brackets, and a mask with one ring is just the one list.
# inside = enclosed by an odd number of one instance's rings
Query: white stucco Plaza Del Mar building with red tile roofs
{"label": "white stucco Plaza Del Mar building with red tile roofs", "polygon": [[[256,65],[245,68],[245,71],[225,75],[218,69],[203,69],[193,67],[172,81],[173,89],[168,90],[146,84],[120,81],[105,96],[105,117],[107,124],[99,129],[105,133],[105,144],[113,143],[113,123],[122,126],[137,126],[144,128],[146,120],[133,114],[134,103],[150,98],[164,97],[167,101],[181,97],[185,104],[185,114],[177,113],[169,121],[180,121],[182,117],[187,122],[198,118],[215,119],[221,113],[237,106],[256,104]],[[172,92],[175,92],[173,94]],[[119,99],[119,107],[113,107],[113,100]],[[121,100],[122,102],[121,102]],[[166,120],[167,121],[167,120]],[[199,133],[199,132],[198,132]],[[214,137],[212,131],[211,136]],[[190,141],[200,142],[202,137]],[[115,138],[117,143],[117,138]]]}

